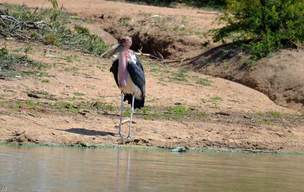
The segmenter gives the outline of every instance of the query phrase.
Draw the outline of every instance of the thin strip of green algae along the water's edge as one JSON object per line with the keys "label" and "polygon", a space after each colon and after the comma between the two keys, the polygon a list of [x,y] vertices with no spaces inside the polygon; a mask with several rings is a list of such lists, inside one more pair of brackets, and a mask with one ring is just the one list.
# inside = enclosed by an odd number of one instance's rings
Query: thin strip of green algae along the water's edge
{"label": "thin strip of green algae along the water's edge", "polygon": [[77,148],[91,148],[91,149],[145,149],[145,150],[165,150],[171,153],[183,153],[187,151],[196,152],[209,152],[209,153],[258,153],[258,154],[276,154],[276,155],[304,155],[304,153],[296,152],[270,152],[270,151],[244,151],[244,150],[225,150],[225,149],[186,149],[177,151],[173,149],[157,148],[157,147],[140,147],[140,146],[89,146],[86,147],[83,144],[76,145],[56,145],[56,144],[36,144],[36,143],[9,143],[0,142],[0,146],[29,146],[29,147],[77,147]]}

